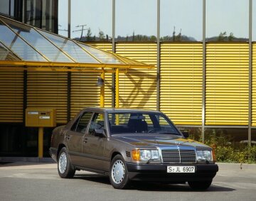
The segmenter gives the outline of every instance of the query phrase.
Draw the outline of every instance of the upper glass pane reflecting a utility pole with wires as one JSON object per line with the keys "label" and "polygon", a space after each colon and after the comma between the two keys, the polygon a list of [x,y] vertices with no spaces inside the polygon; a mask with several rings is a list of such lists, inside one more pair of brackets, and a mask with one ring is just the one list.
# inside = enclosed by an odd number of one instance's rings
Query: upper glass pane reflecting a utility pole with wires
{"label": "upper glass pane reflecting a utility pole with wires", "polygon": [[112,0],[71,1],[71,38],[80,41],[110,41]]}

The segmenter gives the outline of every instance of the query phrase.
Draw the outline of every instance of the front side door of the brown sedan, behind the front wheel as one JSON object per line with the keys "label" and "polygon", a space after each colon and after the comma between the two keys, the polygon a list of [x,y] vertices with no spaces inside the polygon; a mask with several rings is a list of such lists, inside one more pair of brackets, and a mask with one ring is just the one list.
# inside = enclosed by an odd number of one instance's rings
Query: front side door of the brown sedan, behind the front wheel
{"label": "front side door of the brown sedan, behind the front wheel", "polygon": [[90,122],[87,134],[85,134],[82,143],[82,155],[86,158],[83,164],[87,168],[108,171],[108,160],[103,156],[107,138],[95,136],[95,129],[104,130],[104,115],[95,113]]}

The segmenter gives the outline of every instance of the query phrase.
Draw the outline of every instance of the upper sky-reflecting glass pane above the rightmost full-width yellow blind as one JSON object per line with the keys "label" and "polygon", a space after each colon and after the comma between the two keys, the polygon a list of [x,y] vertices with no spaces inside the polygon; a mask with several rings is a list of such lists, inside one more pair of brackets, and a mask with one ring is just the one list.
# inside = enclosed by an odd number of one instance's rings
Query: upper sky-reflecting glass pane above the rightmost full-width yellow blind
{"label": "upper sky-reflecting glass pane above the rightmost full-width yellow blind", "polygon": [[206,1],[207,41],[248,41],[249,1]]}

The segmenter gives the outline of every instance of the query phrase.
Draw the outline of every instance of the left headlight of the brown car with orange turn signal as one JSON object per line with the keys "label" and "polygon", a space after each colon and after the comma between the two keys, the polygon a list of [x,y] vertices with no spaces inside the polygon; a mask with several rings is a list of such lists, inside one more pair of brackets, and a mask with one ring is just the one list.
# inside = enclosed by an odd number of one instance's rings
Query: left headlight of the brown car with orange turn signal
{"label": "left headlight of the brown car with orange turn signal", "polygon": [[132,159],[134,161],[149,161],[149,160],[156,160],[158,161],[159,158],[159,151],[158,150],[140,150],[134,149],[132,150]]}

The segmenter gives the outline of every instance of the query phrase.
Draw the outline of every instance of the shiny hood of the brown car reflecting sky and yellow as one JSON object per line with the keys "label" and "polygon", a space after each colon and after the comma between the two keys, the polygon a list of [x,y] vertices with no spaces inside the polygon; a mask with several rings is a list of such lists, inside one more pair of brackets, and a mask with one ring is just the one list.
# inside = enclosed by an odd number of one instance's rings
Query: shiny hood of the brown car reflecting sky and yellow
{"label": "shiny hood of the brown car reflecting sky and yellow", "polygon": [[129,143],[132,146],[154,146],[154,147],[169,147],[169,146],[206,146],[198,141],[191,139],[181,138],[180,136],[174,135],[145,135],[145,134],[118,134],[113,135],[112,138]]}

